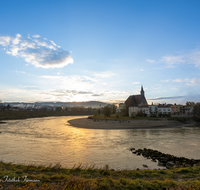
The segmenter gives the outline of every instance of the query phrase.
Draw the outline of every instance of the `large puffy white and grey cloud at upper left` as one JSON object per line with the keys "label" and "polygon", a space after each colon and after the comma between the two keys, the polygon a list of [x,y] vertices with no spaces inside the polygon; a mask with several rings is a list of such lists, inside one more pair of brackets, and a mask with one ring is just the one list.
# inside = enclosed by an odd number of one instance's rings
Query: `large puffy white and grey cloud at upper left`
{"label": "large puffy white and grey cloud at upper left", "polygon": [[41,68],[63,68],[73,63],[71,53],[57,46],[53,41],[38,39],[38,34],[22,38],[0,36],[0,44],[5,47],[6,53],[22,57],[26,62]]}

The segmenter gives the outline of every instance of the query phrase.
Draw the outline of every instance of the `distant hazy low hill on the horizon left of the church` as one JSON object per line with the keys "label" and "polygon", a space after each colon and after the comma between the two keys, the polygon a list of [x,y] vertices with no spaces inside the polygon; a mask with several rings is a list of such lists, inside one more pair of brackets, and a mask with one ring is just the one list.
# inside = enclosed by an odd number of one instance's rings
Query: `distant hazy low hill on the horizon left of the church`
{"label": "distant hazy low hill on the horizon left of the church", "polygon": [[99,108],[104,107],[108,105],[104,102],[99,101],[88,101],[88,102],[34,102],[34,103],[26,103],[26,102],[4,102],[4,105],[10,104],[11,106],[18,106],[18,107],[46,107],[46,106],[52,106],[52,107],[92,107],[92,108]]}

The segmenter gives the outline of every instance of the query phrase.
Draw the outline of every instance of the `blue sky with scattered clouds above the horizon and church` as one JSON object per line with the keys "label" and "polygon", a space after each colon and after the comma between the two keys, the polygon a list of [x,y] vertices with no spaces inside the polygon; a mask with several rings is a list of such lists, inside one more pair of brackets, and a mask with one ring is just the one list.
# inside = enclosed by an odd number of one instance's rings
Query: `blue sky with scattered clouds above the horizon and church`
{"label": "blue sky with scattered clouds above the horizon and church", "polygon": [[0,100],[200,102],[199,0],[0,1]]}

